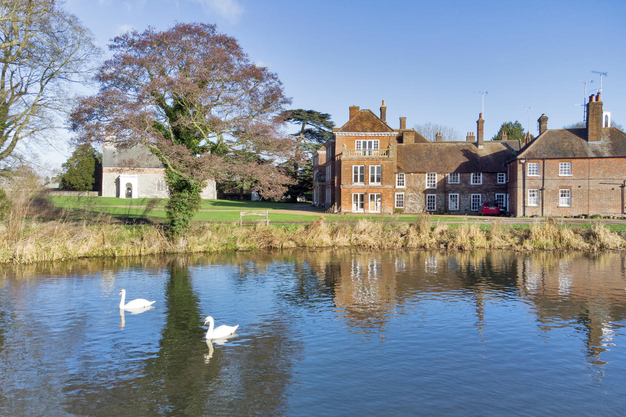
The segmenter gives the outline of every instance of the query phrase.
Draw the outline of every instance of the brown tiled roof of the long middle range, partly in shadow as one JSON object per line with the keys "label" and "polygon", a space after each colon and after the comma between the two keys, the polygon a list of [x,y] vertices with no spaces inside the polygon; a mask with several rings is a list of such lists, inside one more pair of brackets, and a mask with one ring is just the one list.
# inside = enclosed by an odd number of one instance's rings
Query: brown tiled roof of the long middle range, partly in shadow
{"label": "brown tiled roof of the long middle range, partly in shadow", "polygon": [[401,173],[498,173],[515,157],[519,141],[430,142],[398,144]]}

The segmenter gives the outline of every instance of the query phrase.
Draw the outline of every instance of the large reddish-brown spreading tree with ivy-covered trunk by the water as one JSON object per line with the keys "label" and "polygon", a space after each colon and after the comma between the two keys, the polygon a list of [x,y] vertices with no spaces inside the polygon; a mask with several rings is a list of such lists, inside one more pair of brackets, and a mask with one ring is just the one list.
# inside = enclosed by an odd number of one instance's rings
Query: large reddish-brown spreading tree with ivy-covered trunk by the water
{"label": "large reddish-brown spreading tree with ivy-covered trunk by the water", "polygon": [[[277,75],[250,62],[215,26],[180,23],[111,41],[113,57],[96,75],[97,94],[72,115],[80,141],[143,144],[165,166],[170,235],[184,234],[208,178],[245,180],[265,198],[292,182],[275,162],[292,158],[282,133],[290,103]],[[259,158],[237,158],[255,154]]]}

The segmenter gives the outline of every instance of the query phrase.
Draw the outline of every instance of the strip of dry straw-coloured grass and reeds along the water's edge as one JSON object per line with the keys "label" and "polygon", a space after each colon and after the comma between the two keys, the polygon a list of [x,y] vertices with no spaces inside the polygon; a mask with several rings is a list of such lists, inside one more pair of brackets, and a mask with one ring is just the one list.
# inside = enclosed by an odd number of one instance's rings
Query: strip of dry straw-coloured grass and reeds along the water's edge
{"label": "strip of dry straw-coloured grass and reeds along the water's edge", "polygon": [[552,218],[531,223],[528,228],[514,228],[501,221],[483,227],[431,224],[426,216],[410,224],[366,219],[329,223],[320,217],[302,226],[198,223],[186,238],[170,241],[160,224],[116,224],[106,216],[90,221],[9,218],[0,227],[0,263],[295,248],[623,251],[625,236],[600,222],[590,228],[576,228]]}

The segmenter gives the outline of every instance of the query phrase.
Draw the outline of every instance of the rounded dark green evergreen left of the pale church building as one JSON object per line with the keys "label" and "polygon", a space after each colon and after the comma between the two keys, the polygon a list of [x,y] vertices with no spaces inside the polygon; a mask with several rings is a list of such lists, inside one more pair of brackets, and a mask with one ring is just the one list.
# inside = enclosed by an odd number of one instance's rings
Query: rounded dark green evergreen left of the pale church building
{"label": "rounded dark green evergreen left of the pale church building", "polygon": [[90,144],[81,144],[61,166],[61,188],[97,191],[102,178],[102,156]]}

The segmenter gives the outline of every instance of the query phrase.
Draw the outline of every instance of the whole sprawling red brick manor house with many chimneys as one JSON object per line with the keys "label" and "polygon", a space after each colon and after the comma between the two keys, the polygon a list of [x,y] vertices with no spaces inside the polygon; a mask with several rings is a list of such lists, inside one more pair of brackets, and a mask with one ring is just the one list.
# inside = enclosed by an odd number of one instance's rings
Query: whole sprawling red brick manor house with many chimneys
{"label": "whole sprawling red brick manor house with many chimneys", "polygon": [[313,204],[341,213],[476,214],[497,201],[513,216],[626,213],[626,134],[610,126],[600,94],[587,127],[548,129],[524,143],[483,139],[483,120],[465,141],[425,139],[380,116],[349,108],[349,120],[313,156]]}

